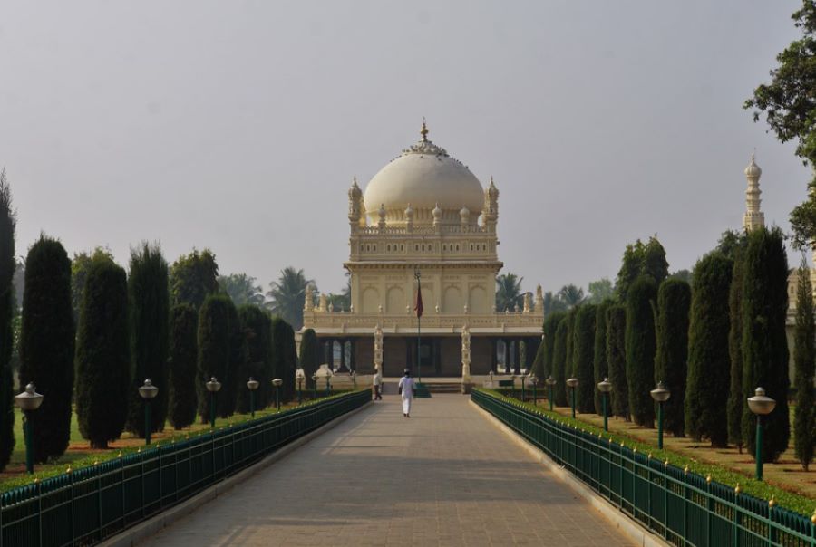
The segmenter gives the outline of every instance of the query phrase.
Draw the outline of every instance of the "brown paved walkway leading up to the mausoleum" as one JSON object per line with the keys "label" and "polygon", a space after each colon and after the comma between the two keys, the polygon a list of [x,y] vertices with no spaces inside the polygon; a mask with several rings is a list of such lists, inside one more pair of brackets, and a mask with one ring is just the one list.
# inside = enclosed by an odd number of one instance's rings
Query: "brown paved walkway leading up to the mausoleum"
{"label": "brown paved walkway leading up to the mausoleum", "polygon": [[148,545],[631,545],[469,398],[389,396]]}

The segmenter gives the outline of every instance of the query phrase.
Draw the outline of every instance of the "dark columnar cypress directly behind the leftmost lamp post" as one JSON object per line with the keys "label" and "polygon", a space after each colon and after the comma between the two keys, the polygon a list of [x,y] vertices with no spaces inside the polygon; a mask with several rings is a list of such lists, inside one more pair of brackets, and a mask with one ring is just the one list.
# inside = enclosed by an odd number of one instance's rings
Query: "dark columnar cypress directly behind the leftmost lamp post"
{"label": "dark columnar cypress directly behind the leftmost lamp post", "polygon": [[20,385],[34,382],[44,395],[31,415],[34,461],[62,456],[71,437],[73,314],[71,261],[63,245],[40,235],[25,258]]}

